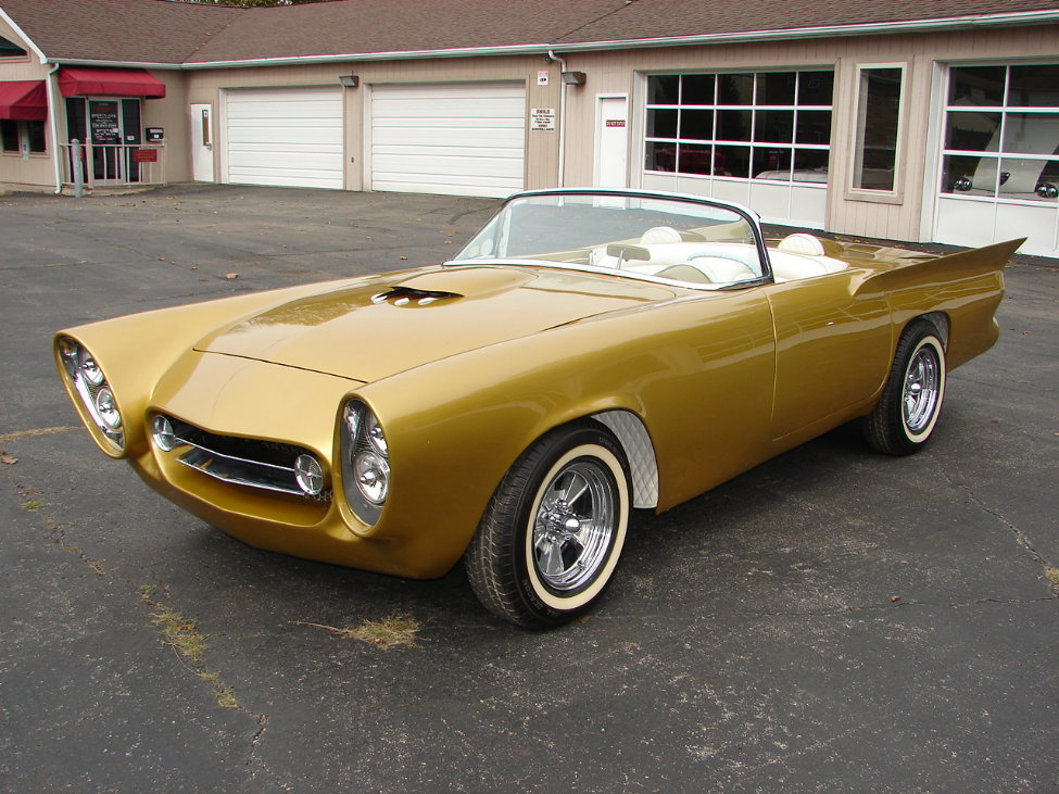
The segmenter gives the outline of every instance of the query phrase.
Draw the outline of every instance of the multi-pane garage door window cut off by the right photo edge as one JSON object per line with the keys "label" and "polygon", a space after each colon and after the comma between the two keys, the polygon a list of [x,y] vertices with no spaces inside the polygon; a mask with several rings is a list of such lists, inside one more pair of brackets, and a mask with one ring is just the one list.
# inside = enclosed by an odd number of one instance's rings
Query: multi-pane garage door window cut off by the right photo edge
{"label": "multi-pane garage door window cut off by the right photo edge", "polygon": [[1059,64],[954,66],[942,192],[1056,203]]}

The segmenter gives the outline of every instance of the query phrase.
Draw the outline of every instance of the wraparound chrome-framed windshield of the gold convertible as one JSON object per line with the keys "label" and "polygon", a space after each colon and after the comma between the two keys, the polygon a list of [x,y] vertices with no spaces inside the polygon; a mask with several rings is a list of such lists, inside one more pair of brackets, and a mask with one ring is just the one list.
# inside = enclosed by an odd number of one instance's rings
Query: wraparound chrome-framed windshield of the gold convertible
{"label": "wraparound chrome-framed windshield of the gold convertible", "polygon": [[740,212],[677,198],[606,193],[517,197],[453,261],[533,260],[718,288],[762,275]]}

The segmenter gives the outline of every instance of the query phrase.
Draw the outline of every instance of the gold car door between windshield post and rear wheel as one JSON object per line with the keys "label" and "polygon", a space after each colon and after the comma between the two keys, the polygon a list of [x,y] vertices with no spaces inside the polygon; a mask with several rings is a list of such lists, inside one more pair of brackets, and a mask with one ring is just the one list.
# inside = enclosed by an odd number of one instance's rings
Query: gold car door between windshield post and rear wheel
{"label": "gold car door between windshield post and rear wheel", "polygon": [[863,278],[849,267],[765,288],[776,329],[773,439],[810,427],[821,432],[882,385],[893,345],[890,307],[878,291],[858,291]]}

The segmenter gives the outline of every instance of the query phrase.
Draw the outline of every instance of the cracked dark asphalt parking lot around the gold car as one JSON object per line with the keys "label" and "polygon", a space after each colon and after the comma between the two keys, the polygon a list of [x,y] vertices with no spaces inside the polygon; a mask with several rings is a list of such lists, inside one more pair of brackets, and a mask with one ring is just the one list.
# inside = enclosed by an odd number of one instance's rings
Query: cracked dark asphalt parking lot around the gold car
{"label": "cracked dark asphalt parking lot around the gold car", "polygon": [[[493,206],[0,196],[0,790],[1059,789],[1059,269],[1039,262],[1009,268],[1004,336],[953,374],[923,454],[841,428],[640,516],[601,608],[552,632],[489,617],[458,568],[249,549],[74,427],[56,329],[432,263]],[[346,631],[395,615],[412,644]]]}

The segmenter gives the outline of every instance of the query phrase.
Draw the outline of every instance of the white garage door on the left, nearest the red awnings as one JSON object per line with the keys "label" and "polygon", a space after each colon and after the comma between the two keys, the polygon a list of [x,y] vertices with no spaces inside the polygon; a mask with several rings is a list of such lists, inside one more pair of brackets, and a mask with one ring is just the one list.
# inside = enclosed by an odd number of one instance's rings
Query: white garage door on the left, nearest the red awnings
{"label": "white garage door on the left, nearest the red awnings", "polygon": [[344,187],[341,87],[229,89],[226,104],[229,182]]}

